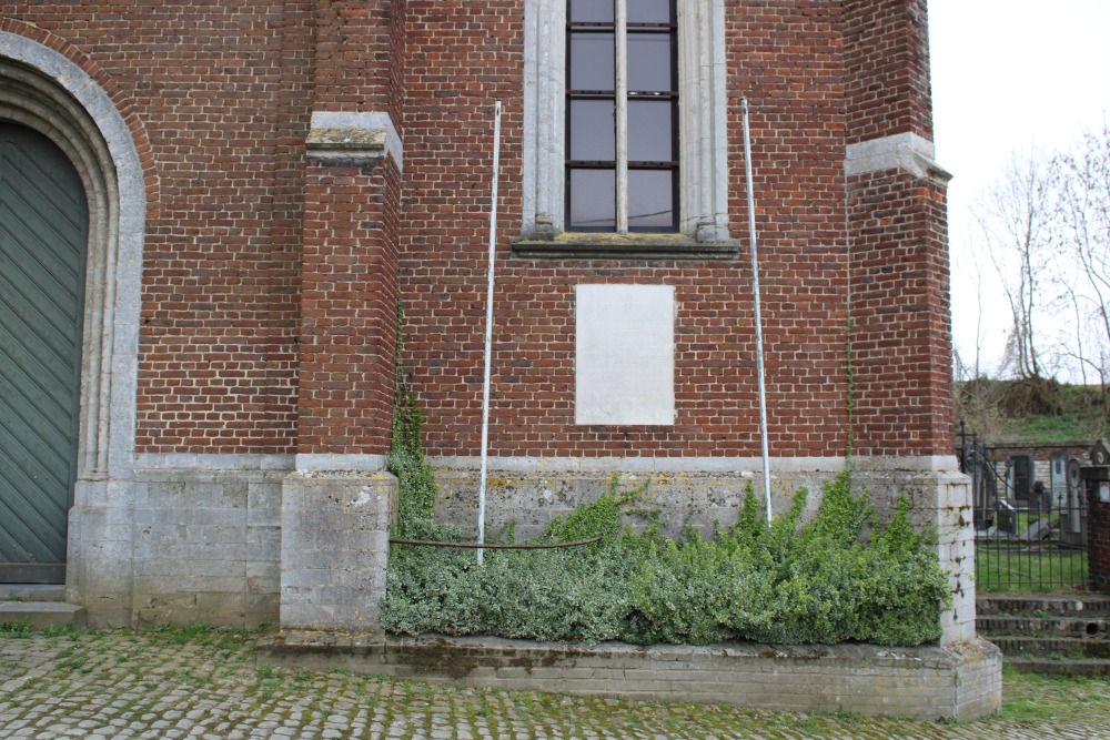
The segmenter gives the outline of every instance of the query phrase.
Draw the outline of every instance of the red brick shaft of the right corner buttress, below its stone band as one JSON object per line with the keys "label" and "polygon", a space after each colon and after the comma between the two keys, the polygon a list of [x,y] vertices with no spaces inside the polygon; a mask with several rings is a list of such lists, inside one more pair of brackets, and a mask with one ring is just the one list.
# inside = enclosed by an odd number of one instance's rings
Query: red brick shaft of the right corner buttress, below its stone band
{"label": "red brick shaft of the right corner buttress, below its stone band", "polygon": [[945,191],[904,172],[849,184],[856,450],[949,455]]}

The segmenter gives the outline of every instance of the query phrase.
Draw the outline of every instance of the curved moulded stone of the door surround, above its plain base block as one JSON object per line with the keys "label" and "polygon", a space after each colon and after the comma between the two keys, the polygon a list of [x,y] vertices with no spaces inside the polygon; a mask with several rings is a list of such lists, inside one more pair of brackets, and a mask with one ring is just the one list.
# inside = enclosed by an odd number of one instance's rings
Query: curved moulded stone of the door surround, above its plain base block
{"label": "curved moulded stone of the door surround, above its plain base block", "polygon": [[6,31],[0,50],[0,120],[53,141],[73,162],[89,199],[75,506],[97,506],[81,500],[80,481],[128,478],[133,467],[147,217],[142,164],[123,116],[84,70]]}

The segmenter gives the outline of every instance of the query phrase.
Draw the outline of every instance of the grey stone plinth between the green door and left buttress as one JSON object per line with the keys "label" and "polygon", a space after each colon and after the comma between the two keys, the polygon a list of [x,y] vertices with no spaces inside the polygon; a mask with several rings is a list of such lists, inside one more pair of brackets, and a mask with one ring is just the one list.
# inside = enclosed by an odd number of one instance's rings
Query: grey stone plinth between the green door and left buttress
{"label": "grey stone plinth between the green door and left buttress", "polygon": [[278,621],[287,455],[138,455],[128,478],[79,480],[65,599],[89,625]]}

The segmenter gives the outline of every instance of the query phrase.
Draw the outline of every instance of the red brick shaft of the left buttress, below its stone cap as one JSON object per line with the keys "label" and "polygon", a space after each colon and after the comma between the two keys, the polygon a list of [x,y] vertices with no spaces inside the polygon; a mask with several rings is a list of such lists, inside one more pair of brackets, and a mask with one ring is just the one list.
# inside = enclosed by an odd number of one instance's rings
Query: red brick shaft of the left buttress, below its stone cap
{"label": "red brick shaft of the left buttress, below its stone cap", "polygon": [[396,385],[393,160],[309,166],[297,452],[385,454]]}

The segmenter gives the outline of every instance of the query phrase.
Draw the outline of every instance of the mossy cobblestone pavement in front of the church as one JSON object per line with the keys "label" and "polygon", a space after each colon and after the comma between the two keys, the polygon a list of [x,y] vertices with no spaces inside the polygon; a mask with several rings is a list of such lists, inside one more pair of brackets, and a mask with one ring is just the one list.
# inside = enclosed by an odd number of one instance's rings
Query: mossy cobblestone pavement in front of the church
{"label": "mossy cobblestone pavement in front of the church", "polygon": [[281,671],[242,632],[0,637],[0,738],[1110,739],[1110,680],[1007,673],[1006,700],[942,724]]}

